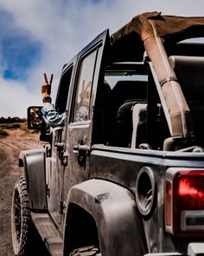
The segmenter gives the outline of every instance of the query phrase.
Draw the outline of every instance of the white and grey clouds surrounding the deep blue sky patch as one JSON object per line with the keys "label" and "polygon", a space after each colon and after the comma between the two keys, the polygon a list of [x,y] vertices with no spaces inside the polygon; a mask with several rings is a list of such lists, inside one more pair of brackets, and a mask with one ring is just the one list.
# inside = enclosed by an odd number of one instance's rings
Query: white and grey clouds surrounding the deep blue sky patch
{"label": "white and grey clouds surrounding the deep blue sky patch", "polygon": [[[93,0],[55,3],[51,0],[0,0],[0,10],[13,17],[12,27],[16,33],[23,29],[41,42],[43,50],[39,63],[28,70],[29,78],[25,82],[5,81],[0,67],[0,116],[25,116],[29,105],[41,104],[42,73],[46,71],[50,75],[52,72],[58,81],[63,64],[103,30],[109,28],[113,33],[145,11],[201,16],[203,7],[203,0],[104,0],[97,3]],[[1,49],[0,45],[0,55]]]}

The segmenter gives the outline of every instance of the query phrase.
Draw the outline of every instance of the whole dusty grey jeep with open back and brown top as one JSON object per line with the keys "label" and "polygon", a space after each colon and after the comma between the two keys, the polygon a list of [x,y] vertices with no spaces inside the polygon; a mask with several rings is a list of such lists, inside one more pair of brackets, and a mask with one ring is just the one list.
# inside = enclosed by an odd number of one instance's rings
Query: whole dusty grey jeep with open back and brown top
{"label": "whole dusty grey jeep with open back and brown top", "polygon": [[203,36],[204,17],[144,13],[63,66],[65,124],[28,111],[45,145],[19,156],[15,255],[204,254]]}

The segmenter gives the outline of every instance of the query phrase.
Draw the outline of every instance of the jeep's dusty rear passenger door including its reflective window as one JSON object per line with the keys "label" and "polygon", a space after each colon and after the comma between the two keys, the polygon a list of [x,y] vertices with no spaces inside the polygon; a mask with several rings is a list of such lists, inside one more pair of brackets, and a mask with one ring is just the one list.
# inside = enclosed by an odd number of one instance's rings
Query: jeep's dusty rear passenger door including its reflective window
{"label": "jeep's dusty rear passenger door including its reflective window", "polygon": [[78,58],[67,126],[68,162],[64,176],[64,204],[70,187],[89,177],[93,109],[109,42],[108,30],[105,30],[80,52]]}

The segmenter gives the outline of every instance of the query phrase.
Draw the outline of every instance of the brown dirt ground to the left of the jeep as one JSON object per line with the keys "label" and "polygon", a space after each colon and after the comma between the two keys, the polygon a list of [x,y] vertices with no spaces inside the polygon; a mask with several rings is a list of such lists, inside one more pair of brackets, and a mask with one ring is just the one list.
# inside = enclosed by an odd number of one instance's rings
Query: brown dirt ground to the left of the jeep
{"label": "brown dirt ground to the left of the jeep", "polygon": [[10,207],[14,183],[23,174],[18,155],[24,149],[40,148],[39,135],[27,130],[26,123],[0,126],[0,256],[13,256],[10,237]]}

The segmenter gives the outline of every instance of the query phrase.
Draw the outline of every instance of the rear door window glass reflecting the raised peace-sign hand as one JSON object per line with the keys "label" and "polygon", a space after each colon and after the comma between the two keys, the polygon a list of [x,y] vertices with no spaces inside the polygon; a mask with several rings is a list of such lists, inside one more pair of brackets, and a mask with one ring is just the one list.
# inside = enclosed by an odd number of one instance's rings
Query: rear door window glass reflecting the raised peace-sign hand
{"label": "rear door window glass reflecting the raised peace-sign hand", "polygon": [[90,119],[92,80],[96,56],[97,50],[93,51],[80,62],[73,121],[87,121]]}

